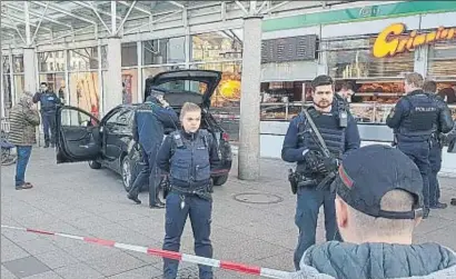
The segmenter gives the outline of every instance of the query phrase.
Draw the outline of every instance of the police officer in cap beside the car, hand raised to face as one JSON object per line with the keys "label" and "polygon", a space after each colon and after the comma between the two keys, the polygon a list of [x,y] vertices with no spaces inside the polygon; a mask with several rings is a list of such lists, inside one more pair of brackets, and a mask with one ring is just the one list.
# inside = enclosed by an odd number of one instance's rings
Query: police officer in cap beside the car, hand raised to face
{"label": "police officer in cap beside the car, hand raised to face", "polygon": [[[145,168],[135,179],[127,198],[141,203],[138,193],[141,187],[149,185],[149,207],[163,208],[158,198],[158,169],[156,167],[157,152],[163,140],[166,128],[176,128],[178,123],[176,111],[163,99],[163,92],[152,89],[146,102],[136,110],[133,117],[133,139],[139,143]],[[148,181],[148,182],[147,182]]]}

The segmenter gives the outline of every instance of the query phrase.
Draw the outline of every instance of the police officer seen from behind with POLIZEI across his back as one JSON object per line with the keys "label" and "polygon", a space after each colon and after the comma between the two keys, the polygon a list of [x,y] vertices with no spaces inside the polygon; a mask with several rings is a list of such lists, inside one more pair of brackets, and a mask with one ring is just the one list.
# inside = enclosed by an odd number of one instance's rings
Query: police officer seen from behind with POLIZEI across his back
{"label": "police officer seen from behind with POLIZEI across his back", "polygon": [[[418,167],[423,177],[424,218],[429,215],[429,150],[433,133],[440,124],[447,130],[442,119],[442,108],[434,97],[423,91],[423,76],[417,72],[405,76],[402,97],[386,119],[386,124],[394,129],[397,148],[407,155]],[[453,124],[452,124],[453,127]]]}

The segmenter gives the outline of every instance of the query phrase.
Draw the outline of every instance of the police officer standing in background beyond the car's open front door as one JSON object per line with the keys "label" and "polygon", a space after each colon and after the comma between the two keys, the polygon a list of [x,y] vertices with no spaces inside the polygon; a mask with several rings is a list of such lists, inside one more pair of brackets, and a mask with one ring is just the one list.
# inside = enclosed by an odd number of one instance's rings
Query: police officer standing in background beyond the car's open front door
{"label": "police officer standing in background beyond the car's open front door", "polygon": [[56,146],[56,112],[57,106],[61,104],[61,101],[54,92],[49,90],[47,82],[41,82],[40,87],[41,90],[33,96],[33,102],[40,102],[41,107],[44,148],[49,148],[49,143],[53,148]]}

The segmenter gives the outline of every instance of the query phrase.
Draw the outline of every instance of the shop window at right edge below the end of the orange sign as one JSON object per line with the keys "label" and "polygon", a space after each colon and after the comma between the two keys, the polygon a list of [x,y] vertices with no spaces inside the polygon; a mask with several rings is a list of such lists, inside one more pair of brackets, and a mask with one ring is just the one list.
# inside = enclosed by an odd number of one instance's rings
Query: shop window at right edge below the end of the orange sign
{"label": "shop window at right edge below the end of the orange sign", "polygon": [[434,79],[456,79],[456,44],[454,41],[436,42],[429,47],[428,76]]}

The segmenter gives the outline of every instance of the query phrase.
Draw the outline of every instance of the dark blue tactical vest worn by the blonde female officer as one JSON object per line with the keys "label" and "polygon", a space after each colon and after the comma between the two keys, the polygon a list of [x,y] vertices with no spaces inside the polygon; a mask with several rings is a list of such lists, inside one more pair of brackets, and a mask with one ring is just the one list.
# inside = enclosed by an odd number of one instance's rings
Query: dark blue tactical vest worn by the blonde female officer
{"label": "dark blue tactical vest worn by the blonde female officer", "polygon": [[[181,138],[181,146],[176,141],[175,136]],[[170,182],[177,179],[188,181],[191,185],[201,185],[210,180],[209,162],[209,132],[199,130],[194,140],[185,138],[180,131],[170,133],[172,138],[171,159],[170,159]]]}

